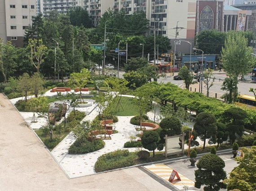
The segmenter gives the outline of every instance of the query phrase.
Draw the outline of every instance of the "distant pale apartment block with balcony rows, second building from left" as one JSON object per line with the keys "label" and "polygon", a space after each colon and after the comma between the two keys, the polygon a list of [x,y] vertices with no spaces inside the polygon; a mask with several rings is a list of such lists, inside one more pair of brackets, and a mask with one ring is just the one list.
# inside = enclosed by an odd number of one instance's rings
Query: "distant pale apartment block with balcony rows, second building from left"
{"label": "distant pale apartment block with balcony rows, second building from left", "polygon": [[66,14],[68,9],[76,6],[83,7],[84,0],[43,0],[43,8],[40,9],[43,10],[43,12],[41,11],[43,15],[47,16],[53,10],[57,10],[60,14]]}

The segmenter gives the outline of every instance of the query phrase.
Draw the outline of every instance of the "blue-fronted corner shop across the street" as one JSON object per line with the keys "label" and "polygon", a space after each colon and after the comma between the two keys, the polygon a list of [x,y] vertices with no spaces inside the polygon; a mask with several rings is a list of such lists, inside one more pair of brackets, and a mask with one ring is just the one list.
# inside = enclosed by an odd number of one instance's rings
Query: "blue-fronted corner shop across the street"
{"label": "blue-fronted corner shop across the street", "polygon": [[[191,55],[191,69],[197,70],[202,63],[202,55]],[[190,66],[190,55],[182,56],[181,66]],[[216,68],[216,55],[203,55],[203,68]]]}

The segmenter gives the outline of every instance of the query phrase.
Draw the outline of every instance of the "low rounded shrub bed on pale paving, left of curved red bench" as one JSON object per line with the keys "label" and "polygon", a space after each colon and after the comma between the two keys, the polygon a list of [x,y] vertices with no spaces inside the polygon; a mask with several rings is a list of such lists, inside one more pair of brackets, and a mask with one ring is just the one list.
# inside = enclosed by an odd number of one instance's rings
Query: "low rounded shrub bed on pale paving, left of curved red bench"
{"label": "low rounded shrub bed on pale paving, left of curved red bench", "polygon": [[[79,142],[79,143],[78,143]],[[97,151],[104,148],[105,142],[103,140],[94,140],[93,143],[88,140],[83,140],[81,143],[76,140],[74,144],[68,149],[69,154],[85,154]]]}

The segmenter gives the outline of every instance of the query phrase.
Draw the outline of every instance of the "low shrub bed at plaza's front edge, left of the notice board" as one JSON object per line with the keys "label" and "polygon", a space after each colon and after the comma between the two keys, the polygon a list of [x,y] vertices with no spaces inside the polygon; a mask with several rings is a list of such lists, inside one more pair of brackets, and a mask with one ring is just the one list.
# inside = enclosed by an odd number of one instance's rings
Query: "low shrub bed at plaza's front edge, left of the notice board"
{"label": "low shrub bed at plaza's front edge, left of the notice board", "polygon": [[128,150],[117,150],[114,152],[103,154],[98,157],[95,163],[95,172],[103,172],[135,165],[137,156],[134,153],[129,153]]}

